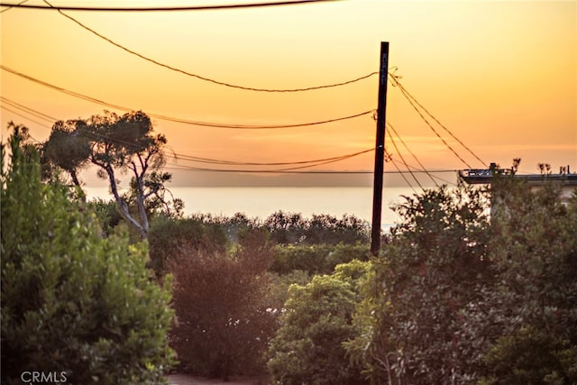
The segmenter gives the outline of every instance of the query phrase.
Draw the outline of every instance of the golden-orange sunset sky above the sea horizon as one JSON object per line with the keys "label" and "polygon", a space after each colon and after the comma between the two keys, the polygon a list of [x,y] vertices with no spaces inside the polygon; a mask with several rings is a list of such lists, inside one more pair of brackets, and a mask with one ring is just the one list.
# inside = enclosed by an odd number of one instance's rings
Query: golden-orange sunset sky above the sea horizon
{"label": "golden-orange sunset sky above the sea horizon", "polygon": [[[258,1],[161,5],[251,2]],[[40,0],[25,4],[45,5]],[[551,164],[554,171],[570,165],[577,172],[575,1],[343,0],[214,11],[63,13],[146,58],[243,87],[316,87],[361,78],[379,71],[380,42],[389,41],[389,71],[435,119],[422,109],[425,119],[418,115],[389,82],[386,116],[395,133],[388,128],[386,148],[393,161],[385,170],[406,170],[403,163],[427,170],[484,168],[490,162],[509,167],[520,158],[523,172],[537,172],[539,162]],[[374,75],[341,87],[294,93],[225,87],[143,60],[78,23],[55,10],[11,8],[0,14],[3,138],[10,121],[28,126],[33,138],[44,141],[54,120],[88,118],[105,109],[124,113],[6,69],[107,104],[196,122],[303,124],[377,108]],[[202,127],[159,117],[152,121],[157,132],[166,134],[171,153],[241,162],[340,157],[373,148],[376,131],[371,113],[270,130]],[[369,151],[303,170],[371,171],[373,157]],[[169,167],[216,166],[180,157],[170,159]],[[198,172],[177,174],[185,184],[200,178]],[[92,183],[93,177],[86,179]]]}

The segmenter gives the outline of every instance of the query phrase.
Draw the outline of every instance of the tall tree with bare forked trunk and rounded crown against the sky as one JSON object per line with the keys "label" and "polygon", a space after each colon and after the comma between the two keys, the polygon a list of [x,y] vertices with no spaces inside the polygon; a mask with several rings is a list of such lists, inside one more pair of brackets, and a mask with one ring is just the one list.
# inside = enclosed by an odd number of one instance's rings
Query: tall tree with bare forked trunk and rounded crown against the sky
{"label": "tall tree with bare forked trunk and rounded crown against the sky", "polygon": [[[163,134],[153,133],[148,115],[140,111],[122,116],[105,112],[86,121],[57,122],[44,144],[44,152],[54,165],[69,172],[78,186],[78,170],[88,163],[96,165],[98,176],[110,183],[120,215],[146,239],[150,227],[147,208],[164,206],[169,210],[164,186],[171,176],[161,172],[166,143]],[[132,177],[129,196],[118,191],[117,177],[125,172]],[[147,200],[152,200],[148,207]],[[181,202],[176,202],[176,208],[181,208]]]}

